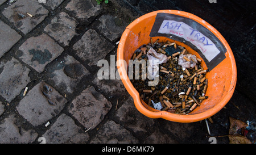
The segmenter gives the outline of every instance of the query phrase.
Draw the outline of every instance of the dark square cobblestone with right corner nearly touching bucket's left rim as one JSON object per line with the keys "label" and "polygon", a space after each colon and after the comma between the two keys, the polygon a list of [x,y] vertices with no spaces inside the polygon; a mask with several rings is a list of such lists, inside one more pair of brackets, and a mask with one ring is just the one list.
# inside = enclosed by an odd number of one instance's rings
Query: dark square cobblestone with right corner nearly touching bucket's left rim
{"label": "dark square cobblestone with right corner nearly touching bucket's left rim", "polygon": [[112,43],[92,29],[86,31],[73,45],[76,55],[83,61],[89,61],[88,65],[97,65],[98,61],[104,59],[113,48]]}

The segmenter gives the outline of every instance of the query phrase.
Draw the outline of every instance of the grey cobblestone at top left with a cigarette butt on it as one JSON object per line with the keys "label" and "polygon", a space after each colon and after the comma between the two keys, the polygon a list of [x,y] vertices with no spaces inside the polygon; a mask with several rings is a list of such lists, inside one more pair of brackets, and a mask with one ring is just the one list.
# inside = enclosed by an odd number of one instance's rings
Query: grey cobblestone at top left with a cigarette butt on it
{"label": "grey cobblestone at top left with a cigarette butt on it", "polygon": [[[27,12],[33,16],[27,15]],[[46,18],[48,10],[36,0],[18,0],[7,7],[3,11],[3,15],[26,35]]]}

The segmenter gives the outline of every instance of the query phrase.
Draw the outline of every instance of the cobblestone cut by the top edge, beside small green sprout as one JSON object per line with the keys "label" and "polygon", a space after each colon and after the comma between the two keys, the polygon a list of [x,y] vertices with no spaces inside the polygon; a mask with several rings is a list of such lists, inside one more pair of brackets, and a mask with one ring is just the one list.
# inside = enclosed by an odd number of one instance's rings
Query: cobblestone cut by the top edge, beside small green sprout
{"label": "cobblestone cut by the top edge, beside small green sprout", "polygon": [[65,9],[87,24],[92,22],[102,11],[100,5],[94,6],[90,0],[72,0]]}

